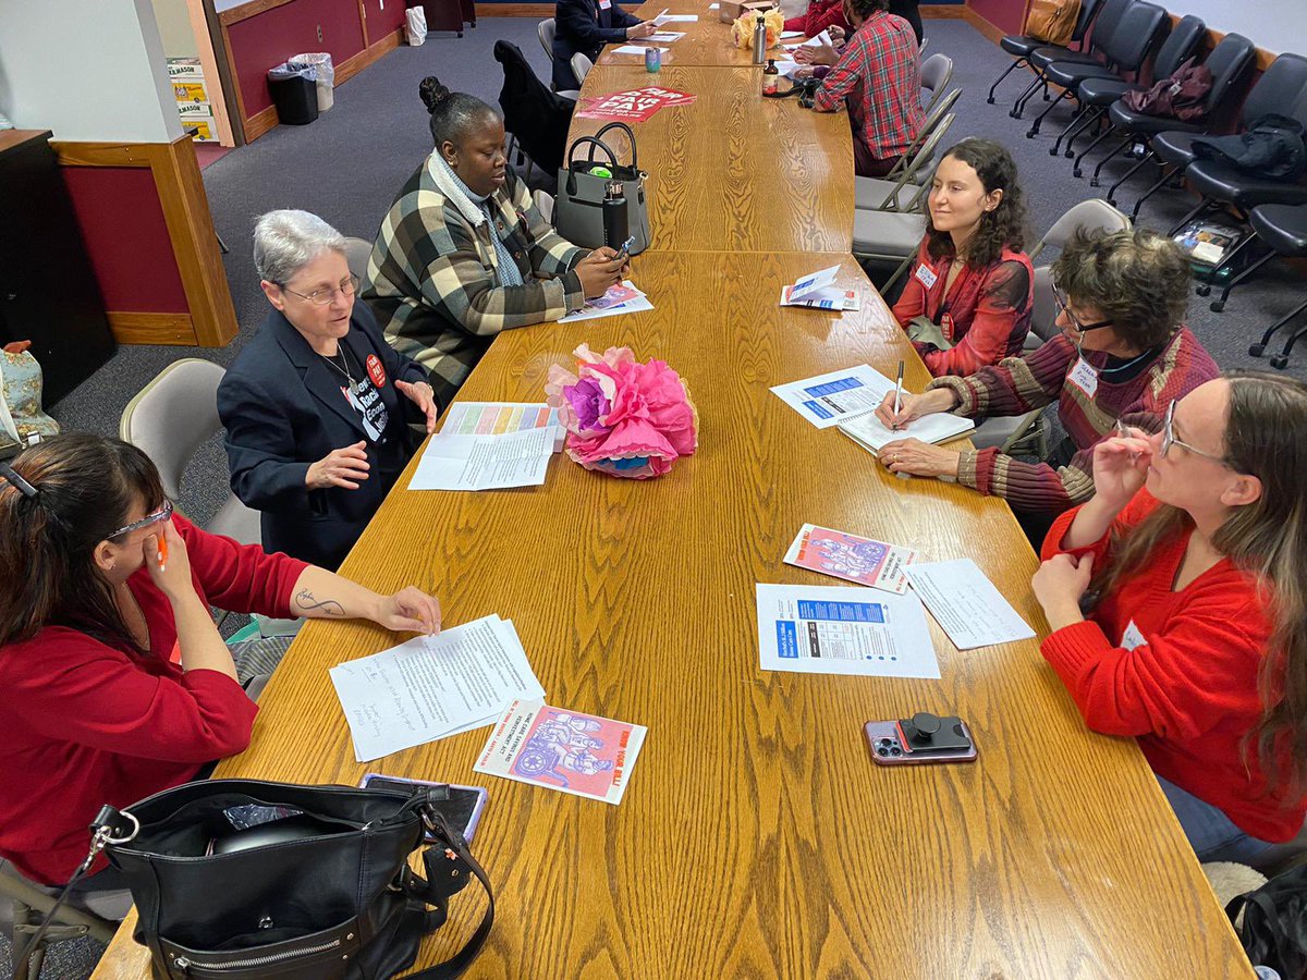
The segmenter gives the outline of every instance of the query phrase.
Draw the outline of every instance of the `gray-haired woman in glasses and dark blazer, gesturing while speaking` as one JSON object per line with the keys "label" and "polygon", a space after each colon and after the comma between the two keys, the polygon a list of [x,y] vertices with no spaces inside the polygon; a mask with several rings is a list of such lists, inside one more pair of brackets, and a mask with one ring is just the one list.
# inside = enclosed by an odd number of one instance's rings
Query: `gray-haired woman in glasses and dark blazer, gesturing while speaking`
{"label": "gray-haired woman in glasses and dark blazer, gesturing while speaking", "polygon": [[303,210],[254,231],[272,304],[218,385],[231,490],[261,512],[263,546],[335,570],[434,431],[426,371],[396,353],[345,263],[344,237]]}

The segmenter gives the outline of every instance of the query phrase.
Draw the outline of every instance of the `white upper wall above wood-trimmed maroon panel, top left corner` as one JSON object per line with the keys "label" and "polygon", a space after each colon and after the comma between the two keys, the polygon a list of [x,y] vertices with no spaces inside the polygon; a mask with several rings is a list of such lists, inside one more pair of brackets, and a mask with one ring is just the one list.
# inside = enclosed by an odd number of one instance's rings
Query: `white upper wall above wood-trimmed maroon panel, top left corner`
{"label": "white upper wall above wood-trimmed maroon panel, top left corner", "polygon": [[171,142],[150,0],[0,0],[0,112],[58,140]]}

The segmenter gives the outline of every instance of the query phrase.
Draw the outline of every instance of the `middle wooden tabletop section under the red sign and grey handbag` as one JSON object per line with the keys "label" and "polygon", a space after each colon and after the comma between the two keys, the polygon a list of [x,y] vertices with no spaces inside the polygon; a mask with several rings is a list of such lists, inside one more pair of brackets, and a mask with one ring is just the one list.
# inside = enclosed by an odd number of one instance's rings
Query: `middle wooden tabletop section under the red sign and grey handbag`
{"label": "middle wooden tabletop section under the red sign and grey handbag", "polygon": [[[852,247],[852,133],[843,114],[765,99],[750,68],[665,68],[659,85],[698,101],[631,128],[650,174],[652,248],[674,252],[839,252]],[[648,85],[643,68],[596,67],[586,94]],[[571,139],[606,120],[574,118]],[[613,150],[629,161],[626,137]],[[570,144],[569,144],[570,145]],[[827,263],[830,264],[830,263]]]}

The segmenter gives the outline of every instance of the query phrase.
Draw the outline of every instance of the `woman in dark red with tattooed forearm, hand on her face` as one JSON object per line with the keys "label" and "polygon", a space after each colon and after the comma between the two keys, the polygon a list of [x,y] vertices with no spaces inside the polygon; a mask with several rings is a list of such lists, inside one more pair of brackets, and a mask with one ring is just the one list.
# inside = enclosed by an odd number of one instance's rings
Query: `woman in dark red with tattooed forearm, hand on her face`
{"label": "woman in dark red with tattooed forearm, hand on her face", "polygon": [[[118,439],[60,435],[0,464],[0,856],[25,877],[67,881],[102,805],[186,783],[248,745],[257,707],[210,602],[440,627],[416,588],[379,596],[200,531]],[[103,868],[84,891],[123,887]]]}

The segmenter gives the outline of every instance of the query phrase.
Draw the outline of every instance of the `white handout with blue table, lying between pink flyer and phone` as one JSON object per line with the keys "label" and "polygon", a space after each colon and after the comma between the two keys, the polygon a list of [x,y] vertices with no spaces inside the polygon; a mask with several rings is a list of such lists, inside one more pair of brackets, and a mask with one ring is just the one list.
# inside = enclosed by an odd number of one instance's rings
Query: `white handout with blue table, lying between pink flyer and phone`
{"label": "white handout with blue table, lying between pink flyer and phone", "polygon": [[925,610],[912,593],[759,583],[757,600],[763,670],[940,676]]}

